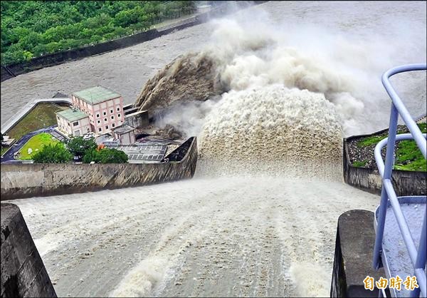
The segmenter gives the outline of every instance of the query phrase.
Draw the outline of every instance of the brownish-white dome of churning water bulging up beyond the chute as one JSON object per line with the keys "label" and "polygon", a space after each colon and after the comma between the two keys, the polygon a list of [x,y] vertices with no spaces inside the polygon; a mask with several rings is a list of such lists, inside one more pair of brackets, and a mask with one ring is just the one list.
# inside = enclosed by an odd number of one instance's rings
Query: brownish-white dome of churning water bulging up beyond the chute
{"label": "brownish-white dome of churning water bulging up beyond the chute", "polygon": [[[330,174],[339,177],[342,129],[334,105],[320,93],[278,84],[231,91],[206,117],[199,156],[222,163],[226,175],[244,169],[293,177],[300,170],[304,177],[323,177],[331,172],[325,165],[332,165],[337,170]],[[208,165],[202,170],[214,173]]]}

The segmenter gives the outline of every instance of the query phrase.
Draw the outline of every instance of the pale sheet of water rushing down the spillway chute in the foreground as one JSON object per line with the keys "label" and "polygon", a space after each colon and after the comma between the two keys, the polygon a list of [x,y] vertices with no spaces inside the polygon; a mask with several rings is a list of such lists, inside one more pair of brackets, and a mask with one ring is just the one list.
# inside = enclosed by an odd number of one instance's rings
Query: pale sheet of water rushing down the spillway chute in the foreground
{"label": "pale sheet of water rushing down the spillway chute in the foreground", "polygon": [[328,296],[342,182],[234,176],[14,200],[58,296]]}

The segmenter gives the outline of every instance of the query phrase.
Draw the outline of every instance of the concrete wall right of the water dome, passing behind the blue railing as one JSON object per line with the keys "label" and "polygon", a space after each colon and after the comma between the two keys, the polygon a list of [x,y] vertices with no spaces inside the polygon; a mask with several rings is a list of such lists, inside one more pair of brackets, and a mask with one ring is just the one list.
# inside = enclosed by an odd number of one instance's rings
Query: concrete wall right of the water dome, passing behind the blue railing
{"label": "concrete wall right of the water dome, passing behind the blue railing", "polygon": [[[371,135],[375,135],[371,134]],[[344,138],[343,145],[343,167],[345,183],[357,187],[361,190],[367,190],[372,193],[381,193],[381,177],[378,169],[357,168],[350,163],[349,150],[347,142],[354,138],[361,138],[370,135],[355,135],[350,138]],[[392,175],[394,190],[396,195],[426,195],[427,192],[427,173],[393,170]]]}

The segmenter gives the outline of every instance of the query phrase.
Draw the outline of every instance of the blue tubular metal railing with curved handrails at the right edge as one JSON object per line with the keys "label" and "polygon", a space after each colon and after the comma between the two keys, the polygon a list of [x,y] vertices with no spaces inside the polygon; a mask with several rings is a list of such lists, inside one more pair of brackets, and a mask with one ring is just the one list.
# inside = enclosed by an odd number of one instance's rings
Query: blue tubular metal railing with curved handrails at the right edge
{"label": "blue tubular metal railing with curved handrails at the right edge", "polygon": [[[404,242],[406,245],[406,249],[408,250],[408,255],[413,264],[413,272],[416,275],[417,282],[419,288],[416,288],[411,292],[411,297],[418,297],[421,293],[423,297],[427,296],[426,292],[426,218],[427,218],[427,210],[424,214],[423,226],[421,228],[421,238],[418,245],[418,251],[416,250],[416,245],[413,242],[413,237],[411,235],[411,231],[408,228],[408,222],[404,217],[404,214],[401,210],[401,206],[399,204],[399,200],[396,196],[396,192],[394,191],[393,185],[391,183],[391,172],[394,167],[394,145],[396,140],[408,140],[414,139],[418,148],[421,150],[424,158],[426,158],[426,148],[427,148],[427,140],[426,135],[421,133],[420,128],[416,125],[416,122],[411,118],[408,110],[402,103],[394,88],[391,86],[389,78],[396,73],[403,73],[406,71],[423,71],[426,70],[426,64],[408,64],[404,66],[398,66],[396,68],[391,68],[389,71],[386,71],[382,76],[382,83],[384,88],[386,88],[387,93],[391,98],[391,113],[390,113],[390,125],[389,125],[389,138],[381,140],[381,142],[376,145],[375,148],[375,160],[378,165],[379,173],[382,178],[382,189],[381,189],[381,202],[379,205],[379,216],[377,222],[376,229],[376,237],[375,237],[375,247],[374,247],[374,258],[373,265],[374,268],[378,269],[381,266],[381,246],[383,242],[384,235],[384,224],[386,220],[386,211],[387,211],[387,203],[390,200],[391,207],[393,208],[394,215],[396,217],[396,221],[399,225],[399,229],[401,231],[401,235],[404,238]],[[404,120],[404,123],[408,127],[410,133],[396,135],[397,133],[397,120],[399,115]],[[384,161],[381,156],[381,149],[384,145],[387,144],[386,149],[386,163],[384,165]]]}

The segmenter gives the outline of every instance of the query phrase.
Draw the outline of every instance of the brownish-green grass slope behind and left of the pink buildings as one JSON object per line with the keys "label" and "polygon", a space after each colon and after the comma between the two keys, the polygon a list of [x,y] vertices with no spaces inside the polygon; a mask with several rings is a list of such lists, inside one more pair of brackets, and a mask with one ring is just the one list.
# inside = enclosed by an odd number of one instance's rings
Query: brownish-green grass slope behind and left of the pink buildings
{"label": "brownish-green grass slope behind and left of the pink buildings", "polygon": [[7,132],[11,138],[19,140],[31,131],[40,128],[46,128],[55,125],[56,115],[58,111],[68,108],[68,105],[58,105],[55,103],[38,103],[25,117],[23,117],[16,125]]}

